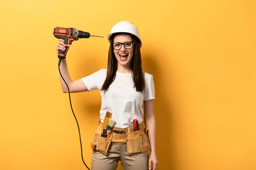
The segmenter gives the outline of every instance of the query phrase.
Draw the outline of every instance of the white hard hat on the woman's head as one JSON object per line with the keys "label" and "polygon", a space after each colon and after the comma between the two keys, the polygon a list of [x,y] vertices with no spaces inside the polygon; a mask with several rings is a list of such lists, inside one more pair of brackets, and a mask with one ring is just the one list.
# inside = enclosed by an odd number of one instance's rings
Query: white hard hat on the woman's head
{"label": "white hard hat on the woman's head", "polygon": [[110,40],[111,35],[114,33],[118,33],[118,32],[130,33],[130,34],[138,37],[140,40],[140,48],[141,48],[142,41],[140,38],[140,31],[133,23],[128,22],[128,21],[121,21],[119,23],[116,23],[116,25],[114,25],[112,27],[110,33],[108,34],[108,41],[111,42],[111,40]]}

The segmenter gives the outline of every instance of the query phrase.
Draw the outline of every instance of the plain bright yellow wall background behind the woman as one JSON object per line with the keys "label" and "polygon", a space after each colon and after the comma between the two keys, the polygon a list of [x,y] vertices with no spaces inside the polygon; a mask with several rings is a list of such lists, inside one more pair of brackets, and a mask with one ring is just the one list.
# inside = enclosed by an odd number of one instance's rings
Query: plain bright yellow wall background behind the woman
{"label": "plain bright yellow wall background behind the woman", "polygon": [[[15,0],[0,10],[0,169],[85,170],[53,28],[105,38],[74,41],[73,80],[107,67],[107,35],[141,32],[156,88],[158,170],[256,169],[255,0]],[[71,94],[83,156],[99,122],[98,91]],[[118,170],[121,170],[119,166]]]}

